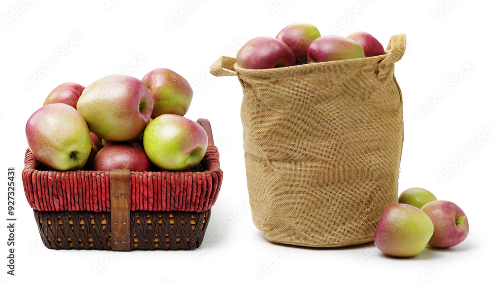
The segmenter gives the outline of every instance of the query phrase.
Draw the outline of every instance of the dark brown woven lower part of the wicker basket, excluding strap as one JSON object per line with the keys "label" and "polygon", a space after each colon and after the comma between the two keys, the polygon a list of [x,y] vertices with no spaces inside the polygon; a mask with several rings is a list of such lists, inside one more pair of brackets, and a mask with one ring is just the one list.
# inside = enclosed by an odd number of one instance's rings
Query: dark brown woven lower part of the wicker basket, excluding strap
{"label": "dark brown woven lower part of the wicker basket, excluding strap", "polygon": [[[34,210],[47,248],[111,250],[109,212]],[[211,210],[205,212],[130,212],[131,249],[193,249],[202,244]],[[89,224],[90,223],[90,224]],[[198,223],[198,224],[197,224]]]}

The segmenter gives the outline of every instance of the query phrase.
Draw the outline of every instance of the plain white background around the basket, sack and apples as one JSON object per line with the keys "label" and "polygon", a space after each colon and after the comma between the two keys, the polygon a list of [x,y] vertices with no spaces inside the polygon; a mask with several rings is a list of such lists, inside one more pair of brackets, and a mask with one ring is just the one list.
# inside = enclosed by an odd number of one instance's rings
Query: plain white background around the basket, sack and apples
{"label": "plain white background around the basket, sack and apples", "polygon": [[[485,127],[493,127],[491,1],[198,0],[195,7],[191,4],[191,0],[1,1],[3,282],[477,282],[484,275],[491,279],[493,138],[485,132]],[[399,192],[421,186],[458,204],[471,227],[466,242],[449,249],[428,247],[416,257],[396,259],[373,244],[292,248],[262,237],[247,203],[239,113],[242,89],[235,77],[212,77],[208,70],[220,55],[235,57],[246,40],[276,36],[294,22],[312,23],[322,35],[366,31],[384,47],[390,35],[407,35],[406,54],[395,64],[404,103]],[[40,70],[50,60],[54,66],[43,74]],[[27,119],[60,83],[87,86],[113,73],[142,78],[155,68],[172,69],[195,87],[186,117],[208,118],[220,150],[224,182],[205,243],[193,251],[45,248],[20,179]],[[43,75],[29,85],[33,72]],[[451,77],[456,77],[455,82]],[[445,95],[433,101],[442,89]],[[418,115],[423,108],[426,113]],[[461,155],[467,159],[460,160]],[[6,275],[7,167],[15,167],[19,176],[15,277]],[[439,174],[448,176],[440,179]],[[259,271],[265,274],[260,276]]]}

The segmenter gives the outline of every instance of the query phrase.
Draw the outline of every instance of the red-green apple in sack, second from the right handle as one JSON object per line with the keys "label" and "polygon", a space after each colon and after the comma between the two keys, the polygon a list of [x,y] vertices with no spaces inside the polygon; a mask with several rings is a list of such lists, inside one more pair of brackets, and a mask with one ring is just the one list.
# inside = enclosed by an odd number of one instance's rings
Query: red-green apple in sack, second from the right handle
{"label": "red-green apple in sack, second from the right handle", "polygon": [[308,46],[308,63],[363,58],[363,47],[341,35],[324,35]]}

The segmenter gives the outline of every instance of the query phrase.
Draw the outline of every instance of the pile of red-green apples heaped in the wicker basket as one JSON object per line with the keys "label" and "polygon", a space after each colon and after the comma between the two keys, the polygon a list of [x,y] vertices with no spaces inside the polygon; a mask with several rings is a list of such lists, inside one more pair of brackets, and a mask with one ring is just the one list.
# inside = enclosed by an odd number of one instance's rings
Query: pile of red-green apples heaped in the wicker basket
{"label": "pile of red-green apples heaped in the wicker basket", "polygon": [[206,131],[183,117],[192,96],[169,69],[142,80],[108,75],[86,88],[63,83],[29,118],[26,138],[35,158],[56,171],[190,170],[208,143]]}

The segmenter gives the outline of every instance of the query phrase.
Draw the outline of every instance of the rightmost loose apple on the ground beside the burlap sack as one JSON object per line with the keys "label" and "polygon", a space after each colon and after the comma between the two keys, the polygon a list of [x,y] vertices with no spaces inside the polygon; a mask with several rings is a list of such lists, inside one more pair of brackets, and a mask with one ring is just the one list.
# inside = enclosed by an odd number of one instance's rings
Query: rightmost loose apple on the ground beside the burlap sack
{"label": "rightmost loose apple on the ground beside the burlap sack", "polygon": [[465,213],[453,202],[432,201],[421,210],[433,221],[434,232],[428,245],[449,248],[458,245],[469,234],[469,221]]}

